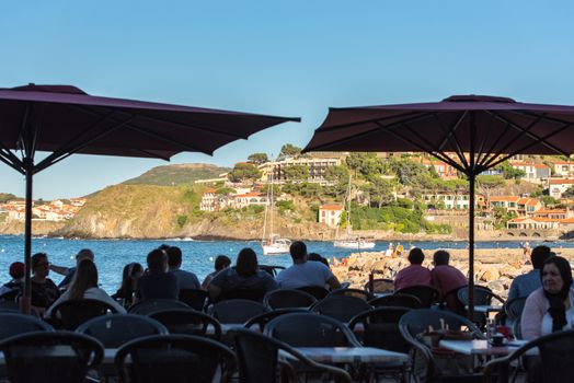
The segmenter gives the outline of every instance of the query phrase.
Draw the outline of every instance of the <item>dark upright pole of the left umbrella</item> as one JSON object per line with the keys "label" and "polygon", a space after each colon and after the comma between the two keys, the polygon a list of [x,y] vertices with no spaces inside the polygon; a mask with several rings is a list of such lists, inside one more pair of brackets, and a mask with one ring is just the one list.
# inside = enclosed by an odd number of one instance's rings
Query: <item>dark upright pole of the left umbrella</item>
{"label": "dark upright pole of the left umbrella", "polygon": [[25,223],[24,223],[24,294],[21,298],[21,310],[23,314],[31,312],[31,271],[32,271],[32,181],[34,177],[34,163],[30,158],[24,159],[25,174],[26,174],[26,207],[25,207]]}

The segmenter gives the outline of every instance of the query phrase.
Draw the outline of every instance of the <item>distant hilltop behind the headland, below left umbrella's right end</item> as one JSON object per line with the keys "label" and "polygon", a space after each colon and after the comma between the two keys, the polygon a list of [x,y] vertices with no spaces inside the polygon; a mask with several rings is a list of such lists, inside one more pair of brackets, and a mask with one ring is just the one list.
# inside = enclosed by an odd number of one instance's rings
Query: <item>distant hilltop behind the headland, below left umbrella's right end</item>
{"label": "distant hilltop behind the headland, below left umbrella's right end", "polygon": [[210,164],[191,163],[153,167],[138,177],[123,182],[124,185],[159,185],[172,186],[192,184],[197,179],[217,178],[221,173],[229,172],[228,167]]}

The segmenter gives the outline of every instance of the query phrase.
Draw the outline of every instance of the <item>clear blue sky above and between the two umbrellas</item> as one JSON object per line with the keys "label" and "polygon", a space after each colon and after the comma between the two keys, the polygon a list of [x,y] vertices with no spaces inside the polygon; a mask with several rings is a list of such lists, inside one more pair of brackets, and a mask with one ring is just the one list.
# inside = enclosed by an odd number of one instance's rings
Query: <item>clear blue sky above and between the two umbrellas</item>
{"label": "clear blue sky above and between the two umbrellas", "polygon": [[[231,166],[305,146],[329,106],[467,93],[572,105],[573,14],[571,1],[5,1],[0,86],[302,117],[172,159]],[[73,155],[36,176],[34,196],[81,196],[161,164]],[[24,195],[1,163],[0,192]]]}

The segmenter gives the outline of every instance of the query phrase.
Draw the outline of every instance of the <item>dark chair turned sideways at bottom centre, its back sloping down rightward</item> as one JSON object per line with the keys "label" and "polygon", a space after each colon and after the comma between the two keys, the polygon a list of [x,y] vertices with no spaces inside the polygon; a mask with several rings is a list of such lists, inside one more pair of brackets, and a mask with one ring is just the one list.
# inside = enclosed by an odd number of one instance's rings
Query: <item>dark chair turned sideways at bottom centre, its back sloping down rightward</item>
{"label": "dark chair turned sideways at bottom centre, its back sloping down rightward", "polygon": [[239,360],[239,383],[275,383],[278,376],[297,382],[297,370],[301,367],[305,372],[321,374],[322,382],[326,378],[351,383],[345,370],[314,362],[284,341],[248,329],[236,329],[232,336]]}

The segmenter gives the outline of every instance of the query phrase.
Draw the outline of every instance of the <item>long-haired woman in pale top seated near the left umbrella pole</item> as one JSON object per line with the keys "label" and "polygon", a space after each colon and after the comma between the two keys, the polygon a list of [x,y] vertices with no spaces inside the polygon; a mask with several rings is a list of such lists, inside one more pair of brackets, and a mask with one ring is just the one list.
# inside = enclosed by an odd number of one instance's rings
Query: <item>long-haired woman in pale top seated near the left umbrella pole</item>
{"label": "long-haired woman in pale top seated near the left umbrella pole", "polygon": [[44,316],[50,317],[54,307],[60,302],[81,299],[94,299],[110,304],[120,314],[126,313],[126,309],[97,287],[97,268],[95,264],[90,259],[83,259],[78,264],[69,288],[49,306]]}

